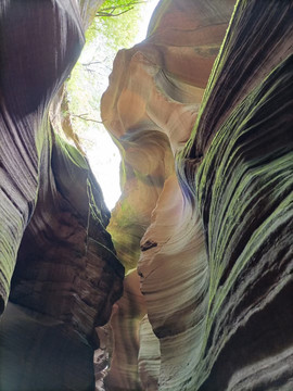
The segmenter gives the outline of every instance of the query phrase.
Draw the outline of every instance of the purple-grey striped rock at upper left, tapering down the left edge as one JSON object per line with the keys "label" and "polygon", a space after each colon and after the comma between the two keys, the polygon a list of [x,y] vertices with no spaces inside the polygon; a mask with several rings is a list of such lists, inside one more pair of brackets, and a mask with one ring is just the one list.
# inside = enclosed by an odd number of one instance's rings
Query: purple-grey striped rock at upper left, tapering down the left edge
{"label": "purple-grey striped rock at upper left, tapering down the left edge", "polygon": [[3,311],[41,171],[46,173],[49,166],[52,140],[46,113],[81,50],[84,35],[74,2],[65,10],[51,1],[35,7],[4,1],[0,10]]}

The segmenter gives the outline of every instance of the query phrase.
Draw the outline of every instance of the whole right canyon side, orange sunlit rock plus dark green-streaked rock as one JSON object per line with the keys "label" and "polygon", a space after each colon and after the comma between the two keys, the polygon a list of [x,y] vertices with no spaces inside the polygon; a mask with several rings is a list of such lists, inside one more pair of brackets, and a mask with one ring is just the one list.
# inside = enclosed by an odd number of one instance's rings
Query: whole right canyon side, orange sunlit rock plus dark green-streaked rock
{"label": "whole right canyon side, orange sunlit rock plus dark green-streaked rock", "polygon": [[102,99],[123,154],[110,231],[143,294],[115,308],[110,390],[293,387],[292,4],[232,10],[161,2]]}

